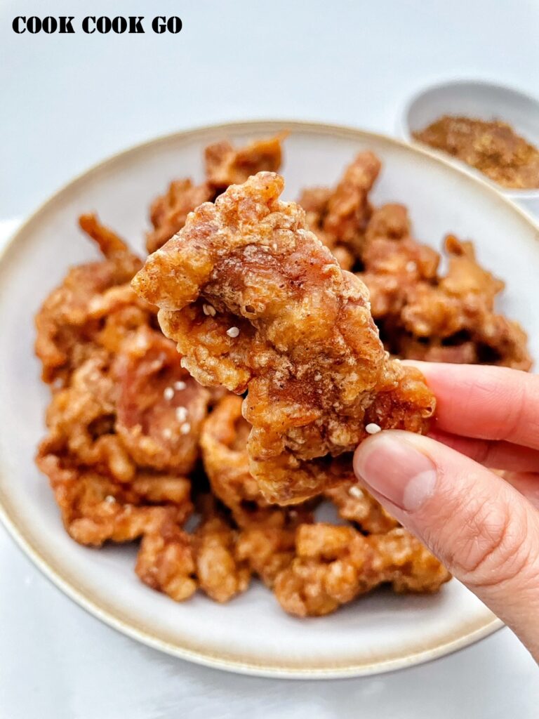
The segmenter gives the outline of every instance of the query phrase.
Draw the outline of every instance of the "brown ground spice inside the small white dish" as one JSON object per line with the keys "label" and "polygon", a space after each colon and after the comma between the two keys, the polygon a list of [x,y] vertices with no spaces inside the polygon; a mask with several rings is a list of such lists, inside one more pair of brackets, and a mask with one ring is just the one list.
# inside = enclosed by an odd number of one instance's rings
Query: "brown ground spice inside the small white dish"
{"label": "brown ground spice inside the small white dish", "polygon": [[458,157],[503,187],[539,188],[538,148],[505,122],[444,115],[413,137]]}

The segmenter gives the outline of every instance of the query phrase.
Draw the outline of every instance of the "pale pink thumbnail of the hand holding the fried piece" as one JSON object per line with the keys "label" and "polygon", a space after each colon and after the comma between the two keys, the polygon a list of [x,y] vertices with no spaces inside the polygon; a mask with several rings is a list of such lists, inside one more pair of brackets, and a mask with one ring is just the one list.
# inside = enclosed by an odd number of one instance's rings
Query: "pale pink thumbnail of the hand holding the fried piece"
{"label": "pale pink thumbnail of the hand holding the fried piece", "polygon": [[434,463],[400,431],[382,432],[360,444],[354,470],[374,492],[407,512],[418,510],[436,486]]}

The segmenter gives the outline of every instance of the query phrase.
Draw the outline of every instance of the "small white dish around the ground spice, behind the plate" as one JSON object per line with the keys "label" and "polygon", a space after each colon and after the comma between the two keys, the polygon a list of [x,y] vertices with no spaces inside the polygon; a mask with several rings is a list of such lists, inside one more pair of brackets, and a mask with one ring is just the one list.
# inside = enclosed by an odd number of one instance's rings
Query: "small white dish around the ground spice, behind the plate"
{"label": "small white dish around the ground spice, behind the plate", "polygon": [[[413,132],[422,130],[443,115],[464,115],[482,120],[502,120],[539,147],[539,101],[525,93],[484,80],[455,80],[414,93],[400,120],[400,134],[417,143]],[[434,152],[439,152],[434,150]],[[443,157],[491,183],[506,197],[539,214],[539,189],[511,190],[492,182],[479,170],[471,168],[445,152]]]}

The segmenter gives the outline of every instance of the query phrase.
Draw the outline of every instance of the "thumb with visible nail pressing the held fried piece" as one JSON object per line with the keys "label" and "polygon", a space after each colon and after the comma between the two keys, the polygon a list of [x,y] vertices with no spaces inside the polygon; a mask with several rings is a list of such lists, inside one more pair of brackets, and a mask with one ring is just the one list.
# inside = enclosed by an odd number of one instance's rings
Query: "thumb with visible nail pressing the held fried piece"
{"label": "thumb with visible nail pressing the held fried piece", "polygon": [[384,431],[354,470],[539,659],[539,513],[514,487],[428,437]]}

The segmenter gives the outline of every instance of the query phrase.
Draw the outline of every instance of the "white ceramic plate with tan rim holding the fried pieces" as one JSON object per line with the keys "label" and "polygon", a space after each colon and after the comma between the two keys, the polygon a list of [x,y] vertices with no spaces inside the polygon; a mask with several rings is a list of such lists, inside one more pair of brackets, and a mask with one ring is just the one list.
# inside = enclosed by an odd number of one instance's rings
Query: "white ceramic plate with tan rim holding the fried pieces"
{"label": "white ceramic plate with tan rim holding the fried pieces", "polygon": [[[277,677],[375,674],[442,656],[500,626],[453,580],[432,597],[376,592],[326,618],[282,613],[264,587],[229,605],[195,596],[175,604],[134,574],[134,547],[99,551],[65,533],[47,480],[34,467],[48,390],[33,357],[33,316],[68,265],[95,256],[75,222],[97,210],[142,249],[149,200],[171,178],[201,178],[202,149],[229,137],[245,142],[286,127],[286,198],[305,185],[333,183],[354,153],[382,157],[374,201],[410,207],[416,237],[440,247],[446,232],[472,237],[484,265],[507,280],[502,307],[531,335],[539,357],[539,227],[487,183],[429,152],[355,129],[253,122],[175,134],[123,152],[74,180],[19,230],[0,262],[0,510],[34,562],[66,594],[139,641],[183,659]],[[83,651],[83,647],[80,648]]]}

